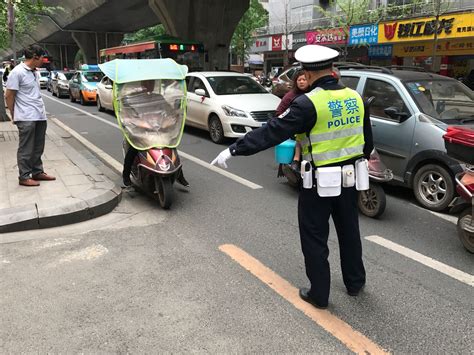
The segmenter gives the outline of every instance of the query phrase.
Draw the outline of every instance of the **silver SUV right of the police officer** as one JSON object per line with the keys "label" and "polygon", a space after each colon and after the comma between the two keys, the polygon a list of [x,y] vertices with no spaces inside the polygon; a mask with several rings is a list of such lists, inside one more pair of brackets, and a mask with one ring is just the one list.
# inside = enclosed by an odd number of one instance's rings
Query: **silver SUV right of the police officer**
{"label": "silver SUV right of the police officer", "polygon": [[448,125],[474,124],[474,94],[459,81],[428,72],[340,67],[341,81],[363,98],[374,96],[374,143],[398,184],[432,211],[445,210],[462,166],[446,154]]}

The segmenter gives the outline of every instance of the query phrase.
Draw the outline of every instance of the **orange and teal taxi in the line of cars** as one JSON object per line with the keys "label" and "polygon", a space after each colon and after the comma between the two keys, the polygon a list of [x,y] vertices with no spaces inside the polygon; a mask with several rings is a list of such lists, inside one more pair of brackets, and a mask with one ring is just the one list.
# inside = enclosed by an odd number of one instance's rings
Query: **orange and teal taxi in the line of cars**
{"label": "orange and teal taxi in the line of cars", "polygon": [[[96,66],[94,66],[95,68]],[[69,80],[69,98],[71,102],[79,100],[81,105],[89,102],[96,102],[96,89],[104,77],[98,68],[97,70],[80,70],[77,71],[71,80]]]}

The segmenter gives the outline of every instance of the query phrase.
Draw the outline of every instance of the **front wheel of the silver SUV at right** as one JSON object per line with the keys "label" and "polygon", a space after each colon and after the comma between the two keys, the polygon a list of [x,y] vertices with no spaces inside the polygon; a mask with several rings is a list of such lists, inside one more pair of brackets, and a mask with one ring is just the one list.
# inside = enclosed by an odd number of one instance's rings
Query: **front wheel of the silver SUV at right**
{"label": "front wheel of the silver SUV at right", "polygon": [[422,166],[413,179],[415,198],[431,211],[445,210],[454,197],[454,182],[449,172],[440,165]]}

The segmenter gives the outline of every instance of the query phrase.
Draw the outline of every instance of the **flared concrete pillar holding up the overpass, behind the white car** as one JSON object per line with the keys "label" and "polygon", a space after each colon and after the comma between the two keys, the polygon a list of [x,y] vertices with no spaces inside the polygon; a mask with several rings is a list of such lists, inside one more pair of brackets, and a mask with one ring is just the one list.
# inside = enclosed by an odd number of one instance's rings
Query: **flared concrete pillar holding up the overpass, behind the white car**
{"label": "flared concrete pillar holding up the overpass, behind the white car", "polygon": [[229,45],[249,0],[148,0],[170,35],[199,41],[205,70],[229,68]]}

